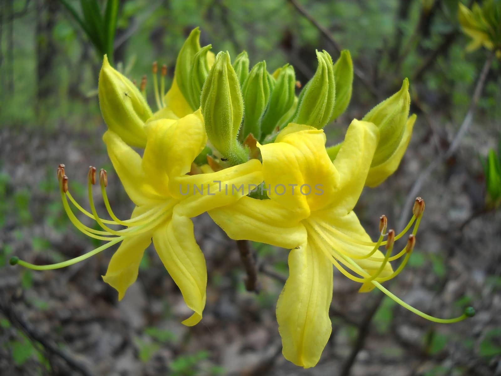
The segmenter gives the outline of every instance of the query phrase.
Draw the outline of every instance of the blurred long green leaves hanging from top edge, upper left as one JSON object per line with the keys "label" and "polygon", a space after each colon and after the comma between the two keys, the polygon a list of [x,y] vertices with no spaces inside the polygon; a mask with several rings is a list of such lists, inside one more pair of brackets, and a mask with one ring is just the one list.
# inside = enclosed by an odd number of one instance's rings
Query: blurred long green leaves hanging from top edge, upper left
{"label": "blurred long green leaves hanging from top edge, upper left", "polygon": [[97,0],[80,0],[83,17],[68,0],[60,0],[60,2],[87,35],[98,54],[98,58],[101,59],[104,55],[108,55],[108,60],[113,64],[118,0],[106,0],[104,12]]}

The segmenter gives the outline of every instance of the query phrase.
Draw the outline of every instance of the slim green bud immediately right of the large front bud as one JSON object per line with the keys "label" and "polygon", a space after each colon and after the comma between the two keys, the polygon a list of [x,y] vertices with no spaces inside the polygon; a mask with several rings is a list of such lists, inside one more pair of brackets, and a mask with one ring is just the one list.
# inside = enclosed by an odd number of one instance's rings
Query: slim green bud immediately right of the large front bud
{"label": "slim green bud immediately right of the large front bud", "polygon": [[241,141],[245,140],[250,133],[256,139],[261,137],[261,116],[265,112],[270,100],[270,75],[266,70],[266,62],[256,64],[250,70],[242,86],[243,103],[245,104],[245,116],[243,117],[242,131],[238,135]]}

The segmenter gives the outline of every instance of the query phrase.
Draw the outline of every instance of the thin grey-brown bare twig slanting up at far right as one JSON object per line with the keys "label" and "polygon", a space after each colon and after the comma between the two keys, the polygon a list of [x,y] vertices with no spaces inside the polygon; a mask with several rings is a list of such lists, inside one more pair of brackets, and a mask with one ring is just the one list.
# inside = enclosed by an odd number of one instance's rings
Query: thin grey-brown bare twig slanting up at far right
{"label": "thin grey-brown bare twig slanting up at far right", "polygon": [[412,207],[412,204],[414,203],[414,199],[419,194],[419,191],[421,190],[421,187],[423,186],[428,176],[431,174],[431,172],[433,172],[433,170],[436,167],[438,167],[442,162],[446,161],[452,154],[454,154],[457,147],[459,146],[459,143],[461,142],[461,139],[468,130],[469,126],[471,125],[471,121],[473,120],[473,113],[475,112],[478,99],[480,98],[480,94],[482,93],[482,89],[485,84],[485,79],[487,78],[487,73],[489,72],[493,58],[494,54],[491,53],[485,60],[482,71],[480,72],[480,76],[478,77],[478,81],[475,86],[475,91],[473,92],[473,97],[471,98],[468,112],[466,113],[466,116],[464,117],[464,120],[461,123],[461,126],[459,127],[459,130],[457,131],[457,134],[450,143],[448,149],[445,151],[445,153],[438,155],[435,159],[433,159],[433,161],[431,161],[428,167],[426,167],[414,181],[414,184],[412,185],[412,188],[409,191],[409,194],[407,195],[407,198],[405,200],[405,204],[403,206],[400,219],[398,221],[398,229],[401,230],[404,228],[408,214],[410,213],[410,209]]}

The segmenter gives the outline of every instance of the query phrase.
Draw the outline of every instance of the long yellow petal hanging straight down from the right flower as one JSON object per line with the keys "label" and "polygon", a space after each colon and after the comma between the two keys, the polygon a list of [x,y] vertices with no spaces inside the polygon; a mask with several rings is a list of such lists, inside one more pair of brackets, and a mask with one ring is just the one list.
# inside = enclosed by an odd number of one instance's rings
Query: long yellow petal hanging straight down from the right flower
{"label": "long yellow petal hanging straight down from the right flower", "polygon": [[332,264],[304,244],[289,253],[289,278],[277,302],[282,352],[287,360],[313,367],[331,335]]}

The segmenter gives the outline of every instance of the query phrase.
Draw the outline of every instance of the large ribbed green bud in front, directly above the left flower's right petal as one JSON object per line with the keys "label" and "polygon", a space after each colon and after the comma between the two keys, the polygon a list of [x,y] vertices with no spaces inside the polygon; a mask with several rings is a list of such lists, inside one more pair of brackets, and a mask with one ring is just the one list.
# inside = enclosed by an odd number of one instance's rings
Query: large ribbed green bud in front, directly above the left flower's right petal
{"label": "large ribbed green bud in front, directly above the left flower's right petal", "polygon": [[248,159],[236,136],[243,98],[228,52],[219,52],[203,86],[200,108],[210,143],[233,165]]}

